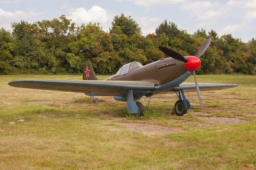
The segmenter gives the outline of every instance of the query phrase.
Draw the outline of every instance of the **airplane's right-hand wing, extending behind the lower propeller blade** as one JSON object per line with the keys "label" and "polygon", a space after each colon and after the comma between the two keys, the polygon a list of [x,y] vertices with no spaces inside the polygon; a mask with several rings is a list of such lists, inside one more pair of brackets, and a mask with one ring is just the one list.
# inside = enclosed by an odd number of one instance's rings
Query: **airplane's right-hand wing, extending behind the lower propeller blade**
{"label": "airplane's right-hand wing, extending behind the lower propeller blade", "polygon": [[[227,88],[234,88],[238,85],[233,84],[216,84],[216,83],[198,83],[200,91],[212,91],[212,90],[221,90]],[[183,90],[184,92],[193,92],[196,91],[195,83],[193,82],[183,82],[178,88],[172,88],[169,91],[164,91],[164,93],[175,92],[177,90]]]}

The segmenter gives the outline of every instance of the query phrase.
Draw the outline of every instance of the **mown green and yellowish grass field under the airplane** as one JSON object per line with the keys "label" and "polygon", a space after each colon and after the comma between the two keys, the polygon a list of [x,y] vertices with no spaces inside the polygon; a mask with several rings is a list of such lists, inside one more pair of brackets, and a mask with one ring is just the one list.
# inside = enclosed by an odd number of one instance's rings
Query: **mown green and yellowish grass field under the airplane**
{"label": "mown green and yellowish grass field under the airplane", "polygon": [[1,170],[256,170],[256,76],[198,75],[239,87],[201,92],[202,108],[196,92],[185,94],[192,109],[182,117],[176,95],[143,97],[143,118],[112,97],[96,105],[84,94],[13,88],[14,79],[81,76],[0,76]]}

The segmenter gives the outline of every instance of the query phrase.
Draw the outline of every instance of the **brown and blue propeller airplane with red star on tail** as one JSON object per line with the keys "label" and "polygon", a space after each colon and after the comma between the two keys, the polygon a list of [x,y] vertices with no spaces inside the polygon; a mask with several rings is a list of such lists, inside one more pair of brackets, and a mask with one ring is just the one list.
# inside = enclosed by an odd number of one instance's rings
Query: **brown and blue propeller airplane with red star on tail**
{"label": "brown and blue propeller airplane with red star on tail", "polygon": [[[160,46],[159,49],[169,58],[161,58],[148,65],[140,62],[130,62],[123,65],[116,74],[104,80],[99,80],[90,61],[84,65],[82,80],[54,79],[21,79],[8,84],[17,88],[32,88],[51,91],[68,91],[84,93],[91,96],[94,103],[99,100],[94,96],[113,96],[117,101],[127,102],[127,111],[132,114],[144,115],[144,106],[139,100],[160,94],[176,93],[178,100],[174,111],[177,116],[183,116],[191,108],[184,92],[197,91],[200,105],[200,91],[234,88],[234,84],[198,83],[195,71],[200,67],[199,59],[207,50],[211,39],[206,40],[195,56],[184,57],[172,49]],[[184,82],[193,73],[195,83]]]}

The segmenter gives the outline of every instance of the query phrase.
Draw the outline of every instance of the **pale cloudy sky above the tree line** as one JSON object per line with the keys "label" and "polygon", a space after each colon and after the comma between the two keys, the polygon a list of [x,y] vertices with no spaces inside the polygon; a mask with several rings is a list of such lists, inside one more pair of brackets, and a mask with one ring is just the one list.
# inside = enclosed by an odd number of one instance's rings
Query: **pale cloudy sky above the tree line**
{"label": "pale cloudy sky above the tree line", "polygon": [[189,34],[204,28],[243,42],[256,37],[256,0],[0,0],[0,28],[64,14],[79,26],[100,23],[109,31],[113,17],[122,13],[140,25],[143,35],[154,33],[166,19]]}

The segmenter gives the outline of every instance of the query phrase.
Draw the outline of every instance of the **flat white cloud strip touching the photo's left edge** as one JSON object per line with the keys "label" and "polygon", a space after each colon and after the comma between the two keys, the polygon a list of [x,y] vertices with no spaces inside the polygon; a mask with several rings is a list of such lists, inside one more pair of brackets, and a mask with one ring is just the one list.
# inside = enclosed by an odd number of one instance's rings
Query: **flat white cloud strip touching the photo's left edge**
{"label": "flat white cloud strip touching the photo's left edge", "polygon": [[20,10],[10,12],[10,11],[4,11],[2,8],[0,8],[0,21],[1,20],[9,20],[9,19],[12,19],[12,18],[26,19],[26,18],[29,18],[29,17],[38,16],[38,15],[41,15],[41,14],[42,13],[40,13],[40,12],[24,12],[24,11],[20,11]]}

